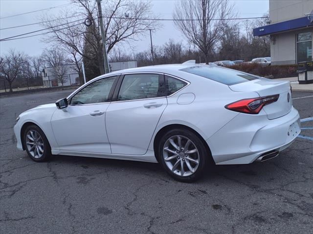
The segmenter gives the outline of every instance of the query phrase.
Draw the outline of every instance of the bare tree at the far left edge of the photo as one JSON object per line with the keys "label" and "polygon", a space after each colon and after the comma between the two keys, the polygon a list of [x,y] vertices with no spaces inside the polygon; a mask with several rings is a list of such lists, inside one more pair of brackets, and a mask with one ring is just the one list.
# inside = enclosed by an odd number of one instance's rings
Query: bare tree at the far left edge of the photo
{"label": "bare tree at the far left edge of the photo", "polygon": [[0,57],[0,78],[8,82],[10,92],[12,92],[12,82],[22,75],[25,65],[25,56],[21,52],[11,49],[4,56]]}

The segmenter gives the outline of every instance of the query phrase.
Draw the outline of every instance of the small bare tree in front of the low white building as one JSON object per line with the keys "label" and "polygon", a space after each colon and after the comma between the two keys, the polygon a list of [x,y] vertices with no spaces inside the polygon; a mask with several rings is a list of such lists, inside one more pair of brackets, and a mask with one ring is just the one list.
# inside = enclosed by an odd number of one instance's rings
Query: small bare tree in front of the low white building
{"label": "small bare tree in front of the low white building", "polygon": [[52,76],[54,76],[62,86],[67,81],[66,76],[68,65],[66,64],[66,56],[63,51],[57,48],[46,49],[43,53],[45,65],[51,68]]}

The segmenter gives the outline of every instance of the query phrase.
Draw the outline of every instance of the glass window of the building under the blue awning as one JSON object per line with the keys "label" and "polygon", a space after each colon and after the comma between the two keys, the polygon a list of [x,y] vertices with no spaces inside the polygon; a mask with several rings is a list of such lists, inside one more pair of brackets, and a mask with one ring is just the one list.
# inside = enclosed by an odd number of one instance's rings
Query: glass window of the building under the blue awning
{"label": "glass window of the building under the blue awning", "polygon": [[312,33],[297,35],[297,62],[312,61]]}

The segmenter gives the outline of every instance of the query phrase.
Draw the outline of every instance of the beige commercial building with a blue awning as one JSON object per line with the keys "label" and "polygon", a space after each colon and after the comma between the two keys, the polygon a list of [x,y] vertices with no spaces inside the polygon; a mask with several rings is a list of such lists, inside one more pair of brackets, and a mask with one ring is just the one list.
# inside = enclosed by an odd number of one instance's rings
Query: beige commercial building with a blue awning
{"label": "beige commercial building with a blue awning", "polygon": [[270,35],[272,65],[312,61],[313,0],[269,0],[268,25],[253,35]]}

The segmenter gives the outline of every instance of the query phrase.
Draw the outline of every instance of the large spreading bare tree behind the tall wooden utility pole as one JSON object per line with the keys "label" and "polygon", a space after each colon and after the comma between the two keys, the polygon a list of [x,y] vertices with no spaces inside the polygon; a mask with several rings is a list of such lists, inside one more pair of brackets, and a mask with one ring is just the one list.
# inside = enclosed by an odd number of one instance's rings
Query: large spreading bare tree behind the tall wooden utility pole
{"label": "large spreading bare tree behind the tall wooden utility pole", "polygon": [[[52,32],[46,38],[46,41],[66,48],[66,51],[73,55],[74,60],[77,60],[77,62],[79,62],[79,59],[76,58],[93,61],[96,59],[100,74],[103,74],[102,40],[96,3],[89,0],[72,0],[72,2],[76,3],[79,10],[62,12],[62,17],[57,17],[62,18],[62,20],[44,23],[44,26]],[[117,43],[136,40],[138,36],[145,34],[148,29],[154,29],[156,26],[155,20],[141,20],[141,18],[151,16],[151,4],[148,1],[105,0],[102,4],[105,5],[103,15],[107,53]],[[92,22],[89,27],[83,24],[86,18],[89,18]],[[75,19],[81,20],[73,22]],[[43,21],[47,20],[49,19],[45,17]],[[55,27],[61,24],[62,26]],[[89,47],[89,53],[85,53],[86,46]]]}

